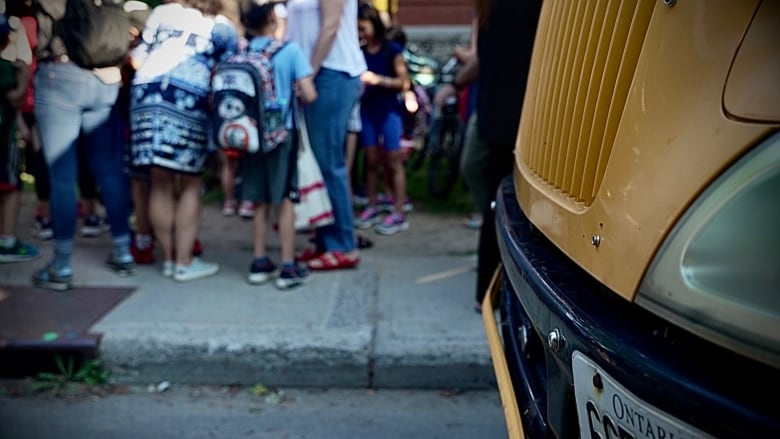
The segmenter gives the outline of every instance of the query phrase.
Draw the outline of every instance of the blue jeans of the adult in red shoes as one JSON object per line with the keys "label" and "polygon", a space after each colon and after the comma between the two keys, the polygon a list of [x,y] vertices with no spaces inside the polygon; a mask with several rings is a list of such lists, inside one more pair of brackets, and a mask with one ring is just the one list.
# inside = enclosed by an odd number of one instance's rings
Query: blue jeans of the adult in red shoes
{"label": "blue jeans of the adult in red shoes", "polygon": [[317,229],[317,248],[350,252],[355,249],[349,172],[344,159],[347,122],[360,96],[360,79],[330,69],[314,78],[317,100],[303,107],[314,156],[322,170],[335,221]]}

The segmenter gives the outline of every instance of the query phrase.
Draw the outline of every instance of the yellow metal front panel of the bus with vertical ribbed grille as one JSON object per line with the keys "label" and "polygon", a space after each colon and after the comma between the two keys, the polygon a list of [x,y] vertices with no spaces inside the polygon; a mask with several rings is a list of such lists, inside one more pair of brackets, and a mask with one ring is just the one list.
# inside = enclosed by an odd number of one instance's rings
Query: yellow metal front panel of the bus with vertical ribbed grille
{"label": "yellow metal front panel of the bus with vertical ribbed grille", "polygon": [[[594,277],[632,300],[677,218],[778,126],[735,120],[722,105],[732,61],[759,2],[615,4],[545,2],[514,178],[530,220]],[[561,8],[571,10],[561,15]],[[602,20],[605,13],[611,18]],[[608,29],[610,21],[620,29]],[[581,41],[560,38],[560,31],[547,28],[560,23],[589,26],[599,37],[589,31]],[[644,35],[632,31],[642,26]],[[575,54],[545,56],[566,46],[560,41],[572,42]],[[544,64],[550,62],[557,64]],[[559,88],[567,92],[556,93]],[[540,119],[535,114],[542,110]]]}

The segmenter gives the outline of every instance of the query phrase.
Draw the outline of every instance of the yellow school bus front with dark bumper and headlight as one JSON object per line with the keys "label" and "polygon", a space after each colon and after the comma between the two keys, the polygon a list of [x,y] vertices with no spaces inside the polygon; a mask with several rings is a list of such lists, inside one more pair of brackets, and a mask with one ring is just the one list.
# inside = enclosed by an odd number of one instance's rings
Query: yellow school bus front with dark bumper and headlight
{"label": "yellow school bus front with dark bumper and headlight", "polygon": [[483,318],[511,437],[780,437],[780,1],[547,1]]}

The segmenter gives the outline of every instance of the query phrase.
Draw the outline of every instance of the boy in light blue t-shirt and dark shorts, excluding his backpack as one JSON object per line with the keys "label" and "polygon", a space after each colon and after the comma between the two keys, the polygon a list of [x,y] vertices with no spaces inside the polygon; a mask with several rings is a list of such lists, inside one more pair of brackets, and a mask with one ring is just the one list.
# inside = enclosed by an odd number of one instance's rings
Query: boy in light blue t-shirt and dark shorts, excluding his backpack
{"label": "boy in light blue t-shirt and dark shorts, excluding his backpack", "polygon": [[[253,35],[247,50],[263,51],[275,42],[277,17],[274,1],[254,0],[245,2],[241,10],[241,23]],[[313,70],[303,52],[295,43],[287,43],[271,58],[278,104],[282,120],[288,130],[293,130],[293,108],[296,98],[302,103],[313,102],[317,91],[312,80]],[[267,282],[277,268],[266,253],[266,234],[271,207],[278,210],[279,236],[281,240],[282,268],[276,279],[280,289],[293,288],[307,280],[308,271],[295,262],[295,209],[290,198],[297,187],[297,142],[291,132],[287,140],[268,153],[258,151],[247,154],[241,163],[242,196],[255,203],[252,224],[254,259],[249,268],[249,283]]]}

